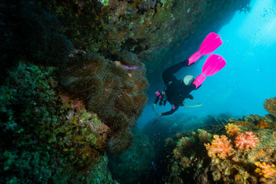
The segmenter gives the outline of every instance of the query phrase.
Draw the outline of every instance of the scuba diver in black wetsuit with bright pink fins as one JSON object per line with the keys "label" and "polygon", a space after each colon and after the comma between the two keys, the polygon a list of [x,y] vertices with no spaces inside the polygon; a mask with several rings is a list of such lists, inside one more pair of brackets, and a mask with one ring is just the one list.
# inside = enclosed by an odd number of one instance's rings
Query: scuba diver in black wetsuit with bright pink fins
{"label": "scuba diver in black wetsuit with bright pink fins", "polygon": [[172,109],[164,113],[155,112],[158,117],[168,116],[177,111],[179,107],[185,106],[183,103],[185,102],[186,98],[193,100],[193,95],[190,95],[190,92],[198,89],[202,82],[204,82],[206,79],[206,76],[214,75],[226,65],[225,60],[220,55],[212,54],[206,59],[206,62],[202,68],[202,73],[199,74],[196,79],[194,79],[192,75],[186,75],[182,81],[177,80],[177,77],[173,75],[181,68],[195,64],[201,55],[212,53],[221,44],[222,41],[219,35],[215,33],[209,33],[204,39],[204,42],[201,44],[197,53],[193,54],[183,62],[179,62],[178,64],[170,66],[164,71],[162,77],[165,83],[165,87],[161,93],[159,91],[155,92],[156,98],[152,109],[155,111],[156,104],[159,100],[159,105],[166,105],[167,101],[170,102]]}

